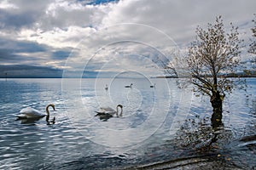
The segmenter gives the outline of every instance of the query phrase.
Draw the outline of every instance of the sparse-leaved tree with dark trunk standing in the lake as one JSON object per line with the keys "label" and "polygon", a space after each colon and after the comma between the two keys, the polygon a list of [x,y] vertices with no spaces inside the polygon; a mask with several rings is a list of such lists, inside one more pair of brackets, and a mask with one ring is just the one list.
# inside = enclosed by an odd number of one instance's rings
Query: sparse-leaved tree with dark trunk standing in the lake
{"label": "sparse-leaved tree with dark trunk standing in the lake", "polygon": [[191,42],[184,61],[189,69],[189,82],[195,85],[195,92],[207,94],[213,108],[212,123],[221,122],[223,101],[226,93],[234,88],[234,82],[225,75],[232,75],[239,65],[241,40],[238,27],[230,23],[230,32],[224,31],[221,16],[204,30],[196,29],[196,40]]}

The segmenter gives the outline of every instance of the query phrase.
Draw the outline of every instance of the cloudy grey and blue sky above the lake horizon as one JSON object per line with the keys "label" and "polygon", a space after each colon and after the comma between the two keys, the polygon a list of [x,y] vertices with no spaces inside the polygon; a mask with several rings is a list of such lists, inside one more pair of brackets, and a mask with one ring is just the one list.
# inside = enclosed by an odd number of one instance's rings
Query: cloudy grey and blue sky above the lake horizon
{"label": "cloudy grey and blue sky above the lake horizon", "polygon": [[0,77],[154,76],[195,40],[196,26],[218,15],[227,28],[239,26],[246,49],[255,7],[255,0],[2,0]]}

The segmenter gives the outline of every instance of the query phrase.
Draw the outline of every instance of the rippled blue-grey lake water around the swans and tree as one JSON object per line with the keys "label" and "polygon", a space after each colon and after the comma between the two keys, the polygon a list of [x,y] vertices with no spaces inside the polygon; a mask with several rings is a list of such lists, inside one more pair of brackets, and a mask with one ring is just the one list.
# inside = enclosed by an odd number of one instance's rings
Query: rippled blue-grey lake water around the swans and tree
{"label": "rippled blue-grey lake water around the swans and tree", "polygon": [[[256,79],[225,98],[217,130],[209,98],[177,88],[176,81],[0,79],[0,169],[121,169],[164,161],[178,167],[183,160],[256,168]],[[50,103],[55,124],[45,117],[16,120],[21,109],[44,112]],[[95,116],[100,107],[118,104],[123,116]]]}

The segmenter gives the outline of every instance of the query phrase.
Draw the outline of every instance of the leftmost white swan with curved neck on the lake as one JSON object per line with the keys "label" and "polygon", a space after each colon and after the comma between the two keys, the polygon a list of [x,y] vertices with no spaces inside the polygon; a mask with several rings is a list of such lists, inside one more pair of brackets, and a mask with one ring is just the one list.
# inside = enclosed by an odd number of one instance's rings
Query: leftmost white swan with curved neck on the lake
{"label": "leftmost white swan with curved neck on the lake", "polygon": [[55,111],[55,105],[53,104],[49,104],[46,106],[46,113],[42,113],[41,111],[35,110],[31,107],[26,107],[20,111],[20,115],[17,115],[17,117],[19,119],[40,118],[44,116],[49,117],[49,106],[51,106]]}

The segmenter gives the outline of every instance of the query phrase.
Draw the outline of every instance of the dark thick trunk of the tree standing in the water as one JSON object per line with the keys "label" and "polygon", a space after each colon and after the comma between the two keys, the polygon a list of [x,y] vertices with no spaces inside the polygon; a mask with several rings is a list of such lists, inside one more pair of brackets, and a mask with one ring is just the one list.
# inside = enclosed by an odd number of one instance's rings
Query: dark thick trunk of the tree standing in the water
{"label": "dark thick trunk of the tree standing in the water", "polygon": [[212,93],[211,96],[211,103],[212,103],[212,127],[219,127],[222,124],[222,103],[223,103],[223,96],[219,94],[219,92]]}

